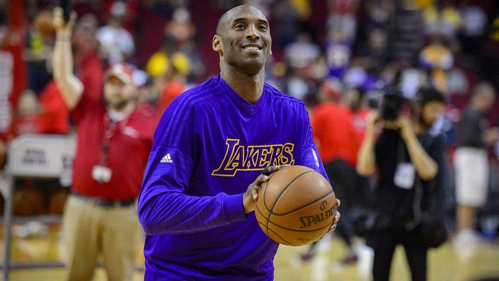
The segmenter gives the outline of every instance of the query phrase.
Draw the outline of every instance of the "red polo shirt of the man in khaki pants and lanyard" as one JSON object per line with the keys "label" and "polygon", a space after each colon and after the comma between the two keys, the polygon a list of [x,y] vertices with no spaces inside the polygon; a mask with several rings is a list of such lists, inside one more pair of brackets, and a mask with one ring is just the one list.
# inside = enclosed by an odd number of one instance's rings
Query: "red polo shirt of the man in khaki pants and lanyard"
{"label": "red polo shirt of the man in khaki pants and lanyard", "polygon": [[[77,127],[77,150],[73,168],[73,190],[107,200],[127,200],[138,196],[156,126],[155,111],[145,106],[112,131],[106,104],[103,101],[103,71],[97,56],[88,57],[81,65],[80,79],[84,90],[73,111]],[[94,166],[100,164],[104,133],[110,138],[107,167],[112,171],[107,183],[92,178]]]}

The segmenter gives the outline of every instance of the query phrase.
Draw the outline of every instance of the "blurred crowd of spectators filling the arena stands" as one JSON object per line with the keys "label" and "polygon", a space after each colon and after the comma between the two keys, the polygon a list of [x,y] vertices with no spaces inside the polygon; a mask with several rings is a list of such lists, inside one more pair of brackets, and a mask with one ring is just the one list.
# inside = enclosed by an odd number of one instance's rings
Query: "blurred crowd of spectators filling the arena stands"
{"label": "blurred crowd of spectators filling the arena stands", "polygon": [[[9,6],[0,1],[0,48],[16,52],[15,46],[22,46],[22,60],[11,61],[12,109],[0,110],[0,152],[23,134],[70,134],[73,128],[52,78],[54,3],[19,2]],[[218,54],[212,50],[218,18],[243,3],[269,19],[273,55],[266,65],[267,83],[303,100],[309,109],[320,102],[317,93],[325,80],[339,84],[334,89],[341,101],[357,89],[366,107],[375,106],[371,101],[394,81],[409,99],[421,87],[433,87],[446,98],[438,126],[452,152],[457,124],[475,86],[487,83],[489,89],[499,89],[499,7],[492,0],[415,0],[400,6],[392,0],[76,0],[74,10],[80,28],[94,34],[103,64],[132,64],[139,104],[161,113],[177,95],[218,74]],[[5,79],[12,67],[0,64]],[[490,127],[499,125],[497,101],[487,120]],[[492,142],[488,147],[492,172],[482,212],[497,220],[499,145],[495,147]],[[446,209],[453,218],[453,182],[446,178]],[[494,229],[493,220],[480,226],[485,225]]]}

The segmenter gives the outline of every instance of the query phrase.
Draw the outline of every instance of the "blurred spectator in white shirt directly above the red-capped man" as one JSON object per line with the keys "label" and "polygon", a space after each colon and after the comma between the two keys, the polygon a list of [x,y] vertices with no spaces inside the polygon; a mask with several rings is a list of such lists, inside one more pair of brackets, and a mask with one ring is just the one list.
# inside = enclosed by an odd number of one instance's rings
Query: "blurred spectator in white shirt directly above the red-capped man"
{"label": "blurred spectator in white shirt directly above the red-capped man", "polygon": [[100,55],[108,64],[126,61],[135,51],[133,37],[122,26],[122,20],[126,13],[126,4],[116,1],[110,9],[110,17],[107,25],[100,27],[97,31],[97,39],[100,43]]}

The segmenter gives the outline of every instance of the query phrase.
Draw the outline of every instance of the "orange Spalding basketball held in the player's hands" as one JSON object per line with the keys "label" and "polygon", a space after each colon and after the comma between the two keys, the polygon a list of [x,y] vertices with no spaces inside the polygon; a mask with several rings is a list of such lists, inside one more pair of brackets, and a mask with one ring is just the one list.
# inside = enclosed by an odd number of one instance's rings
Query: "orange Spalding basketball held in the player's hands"
{"label": "orange Spalding basketball held in the player's hands", "polygon": [[256,200],[263,232],[284,245],[302,246],[321,239],[333,224],[336,197],[329,182],[305,166],[288,166],[269,175]]}

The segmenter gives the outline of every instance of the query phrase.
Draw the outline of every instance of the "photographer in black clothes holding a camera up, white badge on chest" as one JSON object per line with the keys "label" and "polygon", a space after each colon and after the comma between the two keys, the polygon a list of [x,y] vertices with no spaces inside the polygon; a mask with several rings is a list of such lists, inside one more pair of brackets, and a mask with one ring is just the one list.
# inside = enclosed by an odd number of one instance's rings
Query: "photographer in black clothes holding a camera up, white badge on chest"
{"label": "photographer in black clothes holding a camera up, white badge on chest", "polygon": [[[434,89],[419,91],[411,120],[399,114],[402,98],[390,94],[383,97],[380,115],[371,112],[368,116],[357,172],[371,176],[377,168],[379,174],[373,195],[376,216],[368,235],[368,245],[374,249],[374,280],[389,279],[397,244],[405,248],[412,279],[426,280],[427,249],[437,246],[428,243],[427,234],[442,234],[431,228],[428,231],[426,222],[441,218],[433,206],[438,206],[440,200],[439,167],[444,163],[445,147],[443,135],[432,136],[428,130],[443,113],[444,101],[442,94]],[[376,141],[378,122],[384,128]],[[434,213],[430,212],[432,207]],[[441,236],[439,244],[445,240],[445,230]]]}

